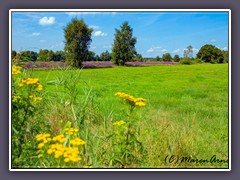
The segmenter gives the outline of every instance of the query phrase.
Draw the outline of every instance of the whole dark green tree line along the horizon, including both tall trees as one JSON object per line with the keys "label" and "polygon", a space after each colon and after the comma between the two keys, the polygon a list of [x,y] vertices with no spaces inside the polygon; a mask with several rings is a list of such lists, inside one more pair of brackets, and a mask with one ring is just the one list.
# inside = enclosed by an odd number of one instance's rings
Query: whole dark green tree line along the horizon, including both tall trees
{"label": "whole dark green tree line along the horizon, including both tall trees", "polygon": [[112,52],[102,52],[97,55],[90,51],[92,28],[88,28],[83,19],[77,18],[72,21],[64,29],[65,47],[63,51],[53,52],[52,50],[41,49],[38,53],[34,51],[12,51],[13,61],[63,61],[73,67],[81,67],[83,61],[112,61],[117,65],[125,65],[128,61],[174,61],[183,64],[191,64],[193,61],[224,63],[228,62],[228,51],[206,44],[193,57],[193,47],[189,45],[183,52],[183,57],[179,55],[171,56],[165,53],[155,58],[143,58],[141,54],[136,52],[135,44],[137,38],[133,37],[133,28],[128,22],[124,22],[120,29],[115,29],[115,38],[113,41]]}

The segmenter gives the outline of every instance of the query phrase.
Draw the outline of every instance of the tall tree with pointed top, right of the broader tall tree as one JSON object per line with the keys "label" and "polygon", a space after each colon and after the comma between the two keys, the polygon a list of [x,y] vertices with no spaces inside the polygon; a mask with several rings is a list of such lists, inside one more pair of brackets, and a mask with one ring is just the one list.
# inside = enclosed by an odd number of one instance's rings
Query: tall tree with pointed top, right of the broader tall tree
{"label": "tall tree with pointed top, right of the broader tall tree", "polygon": [[117,65],[124,65],[132,61],[136,55],[135,44],[137,39],[133,36],[133,29],[124,22],[121,29],[115,29],[115,40],[112,48],[112,60]]}

